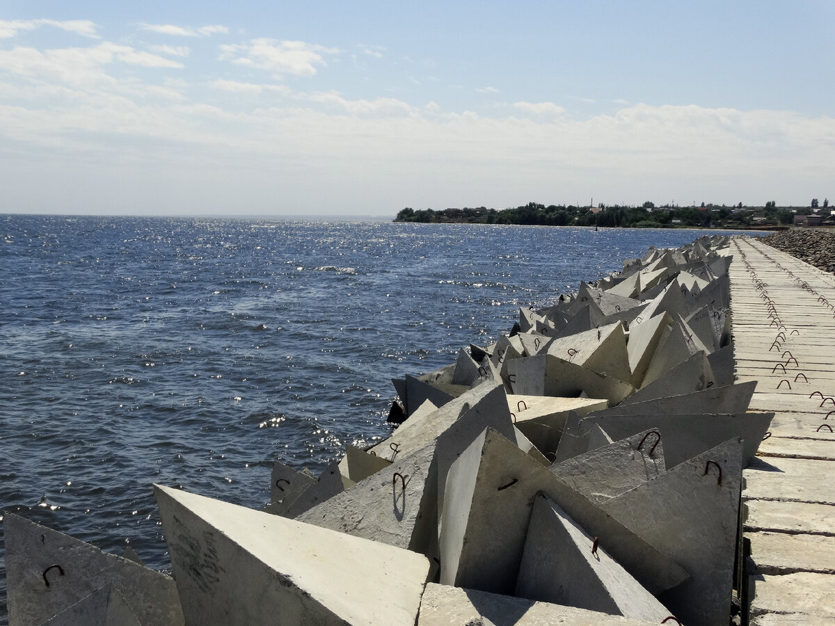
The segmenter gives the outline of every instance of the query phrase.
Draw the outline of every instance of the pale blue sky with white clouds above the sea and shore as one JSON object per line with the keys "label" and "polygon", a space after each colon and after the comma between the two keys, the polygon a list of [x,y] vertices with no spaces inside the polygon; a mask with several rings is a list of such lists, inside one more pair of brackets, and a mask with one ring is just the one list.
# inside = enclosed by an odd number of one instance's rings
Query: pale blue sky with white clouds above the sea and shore
{"label": "pale blue sky with white clouds above the sea and shore", "polygon": [[0,5],[0,213],[835,198],[835,2]]}

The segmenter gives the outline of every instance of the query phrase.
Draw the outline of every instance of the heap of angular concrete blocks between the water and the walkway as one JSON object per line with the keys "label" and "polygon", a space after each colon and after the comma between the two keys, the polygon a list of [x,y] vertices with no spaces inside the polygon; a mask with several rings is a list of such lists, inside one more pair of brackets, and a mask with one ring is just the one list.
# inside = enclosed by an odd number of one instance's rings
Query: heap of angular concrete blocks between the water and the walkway
{"label": "heap of angular concrete blocks between the water and the walkway", "polygon": [[[160,487],[158,501],[186,615],[195,623],[212,621],[225,606],[230,611],[225,614],[244,616],[242,622],[252,618],[253,598],[245,588],[235,591],[235,585],[240,574],[257,566],[263,580],[277,575],[284,581],[265,588],[271,602],[281,593],[270,594],[285,588],[294,603],[307,605],[299,598],[314,598],[309,610],[343,619],[350,615],[349,621],[368,621],[381,606],[399,603],[397,614],[412,614],[412,622],[418,607],[421,619],[432,623],[432,613],[453,606],[466,612],[491,605],[498,608],[487,617],[500,623],[502,611],[518,610],[520,601],[539,599],[550,606],[537,610],[570,612],[600,610],[601,605],[584,605],[605,597],[610,603],[605,613],[627,612],[633,618],[666,613],[663,618],[676,614],[686,623],[716,623],[717,615],[730,616],[741,468],[756,452],[767,418],[746,413],[751,385],[732,384],[723,250],[722,240],[676,252],[651,250],[619,275],[581,285],[554,306],[522,310],[518,327],[494,345],[471,346],[450,366],[398,380],[401,403],[393,413],[408,417],[389,440],[369,451],[349,448],[347,469],[328,467],[318,477],[276,466],[271,508],[305,519],[301,526],[296,519],[266,517]],[[660,416],[665,420],[656,423]],[[635,432],[620,432],[627,422]],[[369,468],[376,471],[362,477]],[[303,488],[296,490],[299,483]],[[676,497],[681,493],[693,498],[681,502]],[[635,525],[645,523],[647,506],[666,514],[638,532]],[[693,507],[703,512],[707,506],[715,513],[707,516],[710,523],[718,526],[682,525],[688,517],[683,512]],[[530,526],[531,507],[535,526]],[[25,523],[13,524],[25,535]],[[279,535],[296,533],[301,552],[291,561],[301,569],[285,569],[290,565],[281,548],[256,549],[260,544],[251,543],[254,535],[245,532],[251,524],[266,524]],[[332,525],[341,533],[308,528]],[[308,532],[299,534],[299,528]],[[527,537],[534,537],[527,560],[525,528]],[[362,551],[357,546],[367,544],[353,543],[346,533],[401,552],[377,546],[379,560],[352,562],[351,554]],[[692,549],[694,539],[679,541],[676,551],[669,541],[681,539],[681,533],[696,533],[700,549]],[[259,541],[270,536],[256,534]],[[547,563],[534,558],[537,548],[554,543],[544,541],[552,535],[563,550],[559,554],[572,563],[565,575],[584,573],[600,593],[584,585],[574,589],[574,598],[554,599],[554,588],[534,589],[553,578],[544,574]],[[305,536],[316,540],[308,545]],[[706,542],[716,542],[716,549]],[[683,553],[681,543],[687,548]],[[425,565],[407,556],[417,553],[424,555]],[[352,581],[358,587],[339,591],[338,581],[331,579],[320,588],[315,581],[321,565],[311,563],[323,554],[336,570],[361,569],[363,576]],[[553,563],[565,560],[550,556]],[[397,564],[402,589],[387,589],[384,602],[372,591],[388,580],[391,570],[385,563]],[[45,580],[47,573],[64,575],[45,572]],[[427,578],[443,584],[424,593]],[[467,596],[470,608],[460,604],[456,588],[474,589]],[[207,590],[213,590],[209,598]],[[108,593],[115,598],[112,589]],[[348,593],[359,598],[346,608]],[[514,593],[524,598],[508,598]],[[370,613],[362,613],[363,607]]]}

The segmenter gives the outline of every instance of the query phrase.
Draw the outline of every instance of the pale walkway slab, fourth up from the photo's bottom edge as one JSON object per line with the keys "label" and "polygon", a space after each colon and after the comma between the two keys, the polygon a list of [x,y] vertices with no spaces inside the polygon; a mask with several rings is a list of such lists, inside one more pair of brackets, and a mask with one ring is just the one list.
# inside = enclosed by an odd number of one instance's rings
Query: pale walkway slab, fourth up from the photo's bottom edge
{"label": "pale walkway slab, fourth up from the photo's bottom edge", "polygon": [[835,537],[835,505],[832,504],[746,500],[742,507],[746,531],[816,533]]}

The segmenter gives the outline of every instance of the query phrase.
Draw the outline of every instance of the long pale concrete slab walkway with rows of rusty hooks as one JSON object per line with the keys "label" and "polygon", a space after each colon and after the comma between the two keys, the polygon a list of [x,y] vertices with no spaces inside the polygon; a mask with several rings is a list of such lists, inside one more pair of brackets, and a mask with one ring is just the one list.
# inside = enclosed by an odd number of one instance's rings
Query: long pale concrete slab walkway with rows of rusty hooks
{"label": "long pale concrete slab walkway with rows of rusty hooks", "polygon": [[751,624],[835,623],[835,276],[756,239],[730,253],[736,376],[775,413],[744,472],[742,606]]}

